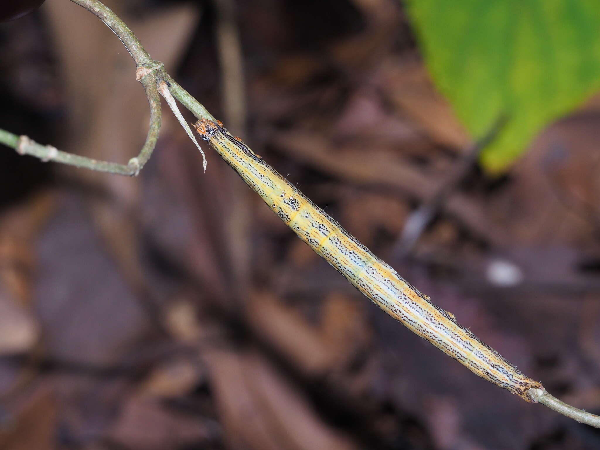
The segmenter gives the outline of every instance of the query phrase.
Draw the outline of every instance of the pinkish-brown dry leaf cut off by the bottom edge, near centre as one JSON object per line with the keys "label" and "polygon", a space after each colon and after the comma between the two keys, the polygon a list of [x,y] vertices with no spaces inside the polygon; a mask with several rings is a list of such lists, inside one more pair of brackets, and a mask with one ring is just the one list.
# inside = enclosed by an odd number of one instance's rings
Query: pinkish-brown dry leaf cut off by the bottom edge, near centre
{"label": "pinkish-brown dry leaf cut off by the bottom edge, near centre", "polygon": [[302,395],[256,353],[210,350],[206,361],[229,448],[356,448],[323,424]]}

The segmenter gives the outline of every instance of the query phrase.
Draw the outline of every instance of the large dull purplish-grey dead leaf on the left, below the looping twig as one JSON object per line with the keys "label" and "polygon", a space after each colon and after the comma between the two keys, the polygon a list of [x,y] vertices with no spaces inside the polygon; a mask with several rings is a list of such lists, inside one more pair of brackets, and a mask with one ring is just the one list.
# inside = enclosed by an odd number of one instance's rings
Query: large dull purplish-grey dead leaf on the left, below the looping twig
{"label": "large dull purplish-grey dead leaf on the left, below the looping twig", "polygon": [[50,358],[116,364],[148,332],[79,196],[64,195],[37,240],[37,313]]}

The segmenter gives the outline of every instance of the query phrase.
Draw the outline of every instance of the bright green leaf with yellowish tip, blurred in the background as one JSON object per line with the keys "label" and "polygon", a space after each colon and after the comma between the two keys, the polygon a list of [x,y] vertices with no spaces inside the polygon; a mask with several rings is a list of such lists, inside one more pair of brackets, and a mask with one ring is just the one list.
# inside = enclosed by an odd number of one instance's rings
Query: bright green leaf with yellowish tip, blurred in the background
{"label": "bright green leaf with yellowish tip, blurred in the background", "polygon": [[600,0],[407,0],[431,76],[505,170],[549,122],[600,89]]}

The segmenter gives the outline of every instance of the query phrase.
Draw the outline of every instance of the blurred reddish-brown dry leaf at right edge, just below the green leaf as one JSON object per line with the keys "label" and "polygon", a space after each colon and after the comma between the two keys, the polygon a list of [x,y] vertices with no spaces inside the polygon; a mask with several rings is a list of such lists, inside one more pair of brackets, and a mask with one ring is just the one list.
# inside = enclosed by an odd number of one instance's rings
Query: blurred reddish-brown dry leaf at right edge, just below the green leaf
{"label": "blurred reddish-brown dry leaf at right edge, just below the green leaf", "polygon": [[485,206],[521,244],[598,248],[598,113],[548,127],[511,173],[511,183]]}

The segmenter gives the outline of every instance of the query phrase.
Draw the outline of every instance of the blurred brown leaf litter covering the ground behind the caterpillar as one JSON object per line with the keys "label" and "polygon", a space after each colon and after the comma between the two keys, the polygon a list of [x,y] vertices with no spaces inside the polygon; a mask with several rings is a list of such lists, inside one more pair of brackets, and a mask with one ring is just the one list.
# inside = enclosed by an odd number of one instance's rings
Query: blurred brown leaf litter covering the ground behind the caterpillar
{"label": "blurred brown leaf litter covering the ground behind the caterpillar", "polygon": [[[217,118],[214,2],[107,4]],[[409,256],[410,212],[469,137],[394,0],[235,2],[251,147],[460,323],[600,410],[598,103],[501,179],[476,168]],[[127,161],[127,51],[66,0],[0,28],[3,128]],[[190,117],[191,121],[191,117]],[[369,304],[165,113],[138,178],[0,152],[0,448],[587,449]],[[522,281],[489,277],[509,263]],[[495,265],[494,265],[495,264]]]}

